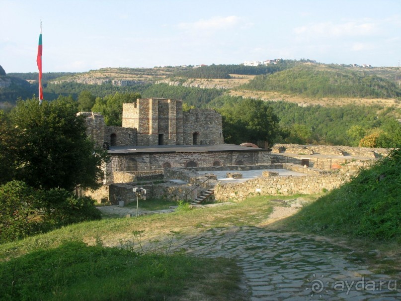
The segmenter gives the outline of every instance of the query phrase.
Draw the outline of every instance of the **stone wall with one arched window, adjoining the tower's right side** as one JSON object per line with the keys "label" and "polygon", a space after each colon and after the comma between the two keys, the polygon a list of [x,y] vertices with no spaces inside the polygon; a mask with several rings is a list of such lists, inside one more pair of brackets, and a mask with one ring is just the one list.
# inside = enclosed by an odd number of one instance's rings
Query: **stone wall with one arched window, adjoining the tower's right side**
{"label": "stone wall with one arched window, adjoining the tower's right side", "polygon": [[183,144],[223,144],[222,115],[215,110],[183,112]]}

